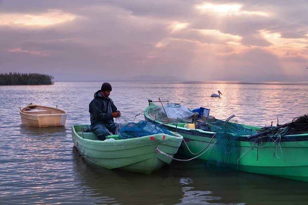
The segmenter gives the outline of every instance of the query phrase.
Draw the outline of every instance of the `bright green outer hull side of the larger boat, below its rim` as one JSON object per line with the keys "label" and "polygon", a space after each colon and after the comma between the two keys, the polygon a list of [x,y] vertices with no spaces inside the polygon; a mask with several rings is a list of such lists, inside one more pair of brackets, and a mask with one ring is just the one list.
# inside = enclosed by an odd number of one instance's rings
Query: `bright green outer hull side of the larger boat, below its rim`
{"label": "bright green outer hull side of the larger boat, below its rim", "polygon": [[[188,148],[197,153],[205,148],[211,137],[204,137],[203,140],[195,136],[183,135]],[[209,147],[215,142],[212,140]],[[265,143],[263,143],[265,144]],[[214,145],[215,146],[215,145]],[[239,171],[246,171],[256,174],[272,175],[288,179],[296,179],[308,182],[308,141],[300,142],[280,142],[280,148],[276,148],[276,144],[271,142],[267,145],[259,143],[257,146],[252,146],[249,142],[237,141],[236,146],[238,153],[233,155],[235,159],[231,160],[236,162],[231,167]],[[236,148],[236,149],[237,149]],[[208,152],[201,155],[198,159],[215,160],[215,154],[212,153],[213,147]],[[195,157],[188,151],[186,145],[182,143],[179,153],[187,157]]]}

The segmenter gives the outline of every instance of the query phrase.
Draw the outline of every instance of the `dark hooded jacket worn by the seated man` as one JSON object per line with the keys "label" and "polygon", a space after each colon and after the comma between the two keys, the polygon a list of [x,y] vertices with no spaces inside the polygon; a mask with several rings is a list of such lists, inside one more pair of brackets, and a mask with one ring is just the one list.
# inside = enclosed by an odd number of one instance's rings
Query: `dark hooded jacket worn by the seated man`
{"label": "dark hooded jacket worn by the seated man", "polygon": [[94,99],[89,104],[91,127],[96,124],[108,124],[112,126],[115,122],[111,116],[117,108],[111,98],[106,98],[100,94],[100,90],[94,93]]}

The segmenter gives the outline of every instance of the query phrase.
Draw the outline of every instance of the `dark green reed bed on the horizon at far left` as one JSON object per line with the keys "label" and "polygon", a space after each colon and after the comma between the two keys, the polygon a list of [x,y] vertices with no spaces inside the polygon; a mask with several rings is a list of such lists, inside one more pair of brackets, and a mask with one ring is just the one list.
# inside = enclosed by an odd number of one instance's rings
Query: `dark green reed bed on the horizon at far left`
{"label": "dark green reed bed on the horizon at far left", "polygon": [[0,85],[51,85],[54,77],[41,73],[0,73]]}

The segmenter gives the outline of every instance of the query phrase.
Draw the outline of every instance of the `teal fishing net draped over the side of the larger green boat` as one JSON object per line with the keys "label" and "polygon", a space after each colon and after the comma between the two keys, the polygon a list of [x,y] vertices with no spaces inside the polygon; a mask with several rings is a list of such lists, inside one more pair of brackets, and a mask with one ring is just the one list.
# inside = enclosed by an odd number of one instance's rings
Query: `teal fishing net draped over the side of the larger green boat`
{"label": "teal fishing net draped over the side of the larger green boat", "polygon": [[237,139],[243,135],[255,134],[251,129],[241,124],[217,120],[207,123],[212,132],[215,132],[214,144],[207,165],[209,168],[234,168],[237,169],[237,160],[240,157],[240,147]]}

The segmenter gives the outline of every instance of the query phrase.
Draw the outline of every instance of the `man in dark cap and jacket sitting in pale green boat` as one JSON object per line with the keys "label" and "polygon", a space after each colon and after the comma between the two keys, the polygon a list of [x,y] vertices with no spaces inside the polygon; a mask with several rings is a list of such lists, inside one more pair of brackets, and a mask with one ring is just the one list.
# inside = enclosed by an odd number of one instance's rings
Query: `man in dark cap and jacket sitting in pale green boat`
{"label": "man in dark cap and jacket sitting in pale green boat", "polygon": [[103,83],[100,90],[94,93],[94,99],[89,104],[91,131],[98,140],[106,140],[106,136],[115,134],[114,117],[120,117],[120,111],[109,98],[112,88],[110,83]]}

